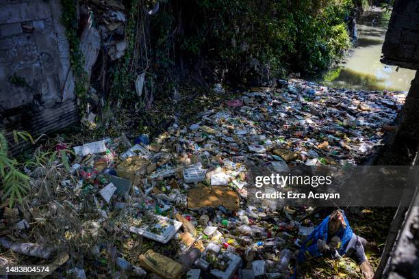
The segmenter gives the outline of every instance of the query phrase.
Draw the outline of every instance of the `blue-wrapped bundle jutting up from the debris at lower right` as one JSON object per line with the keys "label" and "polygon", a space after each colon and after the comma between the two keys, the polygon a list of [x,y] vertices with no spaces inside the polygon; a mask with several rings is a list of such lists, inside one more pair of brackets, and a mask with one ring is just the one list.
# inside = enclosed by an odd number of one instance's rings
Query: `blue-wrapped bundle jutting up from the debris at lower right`
{"label": "blue-wrapped bundle jutting up from the debris at lower right", "polygon": [[307,237],[301,245],[298,261],[302,263],[307,256],[349,256],[359,265],[364,278],[372,279],[374,269],[366,258],[366,244],[366,239],[353,233],[344,212],[338,209],[327,216]]}

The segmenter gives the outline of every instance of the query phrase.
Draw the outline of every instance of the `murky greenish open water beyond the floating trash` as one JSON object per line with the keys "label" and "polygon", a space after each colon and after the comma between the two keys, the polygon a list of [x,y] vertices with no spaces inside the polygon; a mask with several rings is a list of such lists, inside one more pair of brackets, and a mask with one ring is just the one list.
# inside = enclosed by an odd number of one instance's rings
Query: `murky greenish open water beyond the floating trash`
{"label": "murky greenish open water beyond the floating trash", "polygon": [[335,88],[408,91],[415,71],[380,62],[390,13],[375,8],[357,20],[358,40],[344,63],[312,80]]}

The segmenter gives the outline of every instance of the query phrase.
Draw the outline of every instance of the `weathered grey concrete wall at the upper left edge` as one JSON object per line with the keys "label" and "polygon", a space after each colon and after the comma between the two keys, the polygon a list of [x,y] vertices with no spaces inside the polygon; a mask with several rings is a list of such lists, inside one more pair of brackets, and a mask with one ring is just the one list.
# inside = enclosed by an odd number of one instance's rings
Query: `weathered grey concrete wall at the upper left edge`
{"label": "weathered grey concrete wall at the upper left edge", "polygon": [[50,133],[77,121],[60,0],[0,0],[0,129]]}

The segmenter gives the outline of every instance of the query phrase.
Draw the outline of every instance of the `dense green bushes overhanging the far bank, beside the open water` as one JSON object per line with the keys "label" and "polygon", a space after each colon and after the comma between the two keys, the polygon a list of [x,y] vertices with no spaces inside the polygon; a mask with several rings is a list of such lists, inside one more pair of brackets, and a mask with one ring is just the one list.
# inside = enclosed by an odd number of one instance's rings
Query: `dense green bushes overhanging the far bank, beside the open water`
{"label": "dense green bushes overhanging the far bank, beside the open water", "polygon": [[168,1],[151,21],[155,59],[164,68],[172,66],[179,45],[186,59],[210,57],[244,80],[327,68],[350,47],[345,20],[355,3],[196,0],[182,10],[192,18],[184,16],[186,23],[179,25],[173,7],[181,3]]}

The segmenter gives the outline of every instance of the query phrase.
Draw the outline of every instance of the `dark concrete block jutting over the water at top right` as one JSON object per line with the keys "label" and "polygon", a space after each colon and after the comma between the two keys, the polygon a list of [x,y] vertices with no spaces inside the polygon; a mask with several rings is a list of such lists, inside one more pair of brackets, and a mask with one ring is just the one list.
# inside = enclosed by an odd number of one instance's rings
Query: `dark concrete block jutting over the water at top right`
{"label": "dark concrete block jutting over the water at top right", "polygon": [[419,69],[419,1],[396,0],[385,41],[382,62]]}

